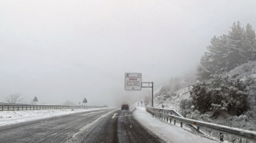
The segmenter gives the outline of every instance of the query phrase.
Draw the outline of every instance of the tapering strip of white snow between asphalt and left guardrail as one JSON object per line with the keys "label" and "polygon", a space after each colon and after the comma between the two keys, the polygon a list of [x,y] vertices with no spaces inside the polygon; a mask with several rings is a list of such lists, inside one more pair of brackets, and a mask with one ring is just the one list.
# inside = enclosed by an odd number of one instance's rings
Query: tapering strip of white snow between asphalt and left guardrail
{"label": "tapering strip of white snow between asphalt and left guardrail", "polygon": [[82,113],[91,110],[101,110],[101,108],[79,108],[79,109],[50,109],[50,110],[10,110],[0,112],[0,126],[10,125],[14,123],[23,123],[26,121],[34,121],[38,119],[46,119],[61,115],[69,115],[73,113]]}

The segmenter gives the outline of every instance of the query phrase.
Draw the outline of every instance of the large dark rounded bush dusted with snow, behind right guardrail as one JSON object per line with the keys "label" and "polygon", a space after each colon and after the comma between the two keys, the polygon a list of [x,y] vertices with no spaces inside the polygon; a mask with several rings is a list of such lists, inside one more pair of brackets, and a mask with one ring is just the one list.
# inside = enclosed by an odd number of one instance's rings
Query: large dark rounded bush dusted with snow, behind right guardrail
{"label": "large dark rounded bush dusted with snow, behind right guardrail", "polygon": [[224,111],[229,115],[241,115],[249,110],[248,97],[242,81],[222,76],[214,76],[208,83],[194,83],[191,90],[195,109],[201,113]]}

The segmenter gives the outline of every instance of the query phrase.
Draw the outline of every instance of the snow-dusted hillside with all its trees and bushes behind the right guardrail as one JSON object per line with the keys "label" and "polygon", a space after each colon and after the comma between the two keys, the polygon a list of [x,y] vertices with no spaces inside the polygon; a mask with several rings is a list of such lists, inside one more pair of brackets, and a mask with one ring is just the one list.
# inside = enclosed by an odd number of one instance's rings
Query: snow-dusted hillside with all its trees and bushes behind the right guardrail
{"label": "snow-dusted hillside with all its trees and bushes behind the right guardrail", "polygon": [[189,119],[256,131],[255,31],[235,22],[228,35],[214,36],[207,49],[197,74],[170,79],[155,94],[155,106],[176,109]]}

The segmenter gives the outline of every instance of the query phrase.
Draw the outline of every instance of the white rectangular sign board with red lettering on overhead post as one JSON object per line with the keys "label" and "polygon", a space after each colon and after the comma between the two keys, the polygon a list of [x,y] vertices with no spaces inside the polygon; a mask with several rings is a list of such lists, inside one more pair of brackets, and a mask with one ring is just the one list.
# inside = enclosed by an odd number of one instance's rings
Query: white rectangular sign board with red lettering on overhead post
{"label": "white rectangular sign board with red lettering on overhead post", "polygon": [[125,73],[125,90],[141,90],[142,74],[141,73]]}

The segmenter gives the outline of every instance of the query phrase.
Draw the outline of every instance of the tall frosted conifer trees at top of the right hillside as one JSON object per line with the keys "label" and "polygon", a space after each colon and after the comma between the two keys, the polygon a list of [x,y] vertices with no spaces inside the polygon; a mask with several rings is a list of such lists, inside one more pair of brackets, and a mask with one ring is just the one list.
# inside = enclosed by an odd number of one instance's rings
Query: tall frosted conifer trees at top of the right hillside
{"label": "tall frosted conifer trees at top of the right hillside", "polygon": [[210,43],[197,68],[199,80],[211,79],[249,60],[256,60],[255,31],[250,24],[242,28],[240,22],[234,22],[228,35],[214,36]]}

